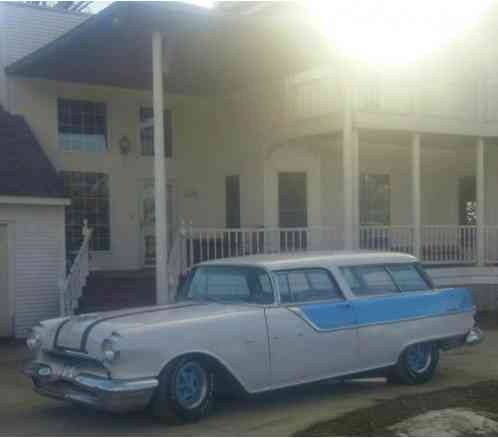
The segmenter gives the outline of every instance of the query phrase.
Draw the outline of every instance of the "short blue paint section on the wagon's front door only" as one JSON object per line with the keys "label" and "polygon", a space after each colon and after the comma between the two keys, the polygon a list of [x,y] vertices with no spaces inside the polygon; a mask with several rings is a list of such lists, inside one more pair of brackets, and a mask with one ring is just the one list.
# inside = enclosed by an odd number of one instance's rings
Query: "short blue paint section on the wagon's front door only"
{"label": "short blue paint section on the wagon's front door only", "polygon": [[320,330],[356,325],[353,306],[349,302],[303,304],[299,309]]}

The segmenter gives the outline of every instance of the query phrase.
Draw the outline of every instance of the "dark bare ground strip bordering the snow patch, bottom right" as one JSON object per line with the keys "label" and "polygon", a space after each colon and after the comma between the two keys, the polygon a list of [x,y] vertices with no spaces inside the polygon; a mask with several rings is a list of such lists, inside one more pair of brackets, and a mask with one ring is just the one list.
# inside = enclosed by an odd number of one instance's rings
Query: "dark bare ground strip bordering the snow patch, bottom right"
{"label": "dark bare ground strip bordering the snow patch, bottom right", "polygon": [[392,436],[396,423],[433,410],[467,408],[498,415],[498,381],[399,397],[316,424],[297,436]]}

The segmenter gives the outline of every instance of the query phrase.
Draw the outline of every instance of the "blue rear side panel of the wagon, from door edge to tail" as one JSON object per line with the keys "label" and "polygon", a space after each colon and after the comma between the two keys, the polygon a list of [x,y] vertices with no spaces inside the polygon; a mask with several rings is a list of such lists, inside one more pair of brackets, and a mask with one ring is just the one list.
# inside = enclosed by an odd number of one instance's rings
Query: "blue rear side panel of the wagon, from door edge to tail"
{"label": "blue rear side panel of the wagon, from door edge to tail", "polygon": [[442,316],[474,309],[470,292],[463,288],[369,297],[354,300],[353,306],[359,325]]}

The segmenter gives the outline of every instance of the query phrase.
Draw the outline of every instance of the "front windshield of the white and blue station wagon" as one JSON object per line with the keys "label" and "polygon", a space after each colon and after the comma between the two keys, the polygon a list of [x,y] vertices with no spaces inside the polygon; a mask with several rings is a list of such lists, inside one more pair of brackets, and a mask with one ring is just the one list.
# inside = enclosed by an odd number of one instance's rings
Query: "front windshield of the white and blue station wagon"
{"label": "front windshield of the white and blue station wagon", "polygon": [[180,301],[273,304],[270,277],[260,268],[200,266],[194,268],[178,294]]}

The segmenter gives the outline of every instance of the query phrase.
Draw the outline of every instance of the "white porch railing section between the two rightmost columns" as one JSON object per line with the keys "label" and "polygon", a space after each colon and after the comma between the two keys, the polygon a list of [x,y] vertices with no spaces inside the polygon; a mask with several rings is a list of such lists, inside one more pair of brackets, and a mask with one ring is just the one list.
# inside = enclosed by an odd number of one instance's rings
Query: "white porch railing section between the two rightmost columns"
{"label": "white porch railing section between the two rightmost columns", "polygon": [[424,225],[421,230],[421,259],[430,264],[477,262],[477,227]]}

